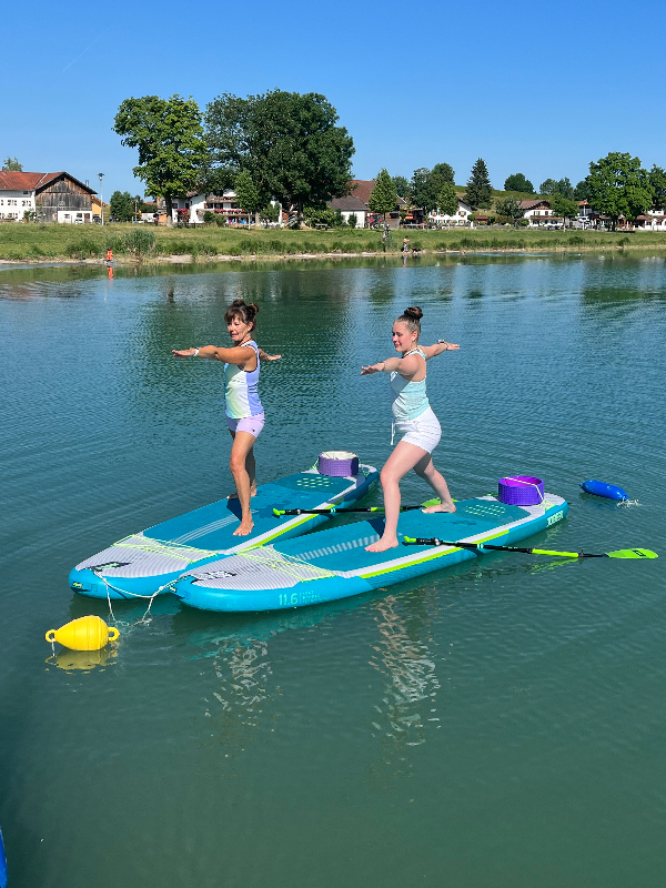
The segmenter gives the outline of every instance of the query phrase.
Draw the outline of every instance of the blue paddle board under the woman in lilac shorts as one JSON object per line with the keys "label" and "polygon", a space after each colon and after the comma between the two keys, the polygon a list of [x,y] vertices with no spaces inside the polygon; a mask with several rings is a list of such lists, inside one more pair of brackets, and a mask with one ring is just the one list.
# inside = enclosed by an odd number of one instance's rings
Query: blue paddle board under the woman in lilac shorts
{"label": "blue paddle board under the woman in lilac shorts", "polygon": [[171,592],[169,584],[183,571],[280,537],[299,536],[329,521],[325,515],[275,518],[273,508],[349,507],[369,494],[379,477],[371,465],[361,465],[356,475],[347,477],[322,475],[313,467],[262,484],[252,497],[254,528],[249,536],[233,535],[241,523],[239,501],[220,500],[120,539],[78,564],[69,584],[93,598],[130,599]]}

